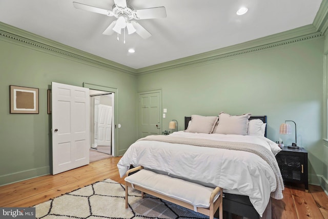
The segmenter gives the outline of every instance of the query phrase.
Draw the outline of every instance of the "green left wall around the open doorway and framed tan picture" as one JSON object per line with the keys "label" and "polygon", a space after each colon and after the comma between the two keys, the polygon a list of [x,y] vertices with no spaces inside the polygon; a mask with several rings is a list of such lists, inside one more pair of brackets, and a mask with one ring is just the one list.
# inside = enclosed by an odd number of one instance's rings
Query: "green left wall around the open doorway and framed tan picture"
{"label": "green left wall around the open doorway and framed tan picture", "polygon": [[[0,185],[51,170],[51,115],[47,114],[51,82],[117,88],[120,153],[136,140],[135,75],[36,49],[0,39]],[[39,88],[39,114],[10,114],[9,85]]]}

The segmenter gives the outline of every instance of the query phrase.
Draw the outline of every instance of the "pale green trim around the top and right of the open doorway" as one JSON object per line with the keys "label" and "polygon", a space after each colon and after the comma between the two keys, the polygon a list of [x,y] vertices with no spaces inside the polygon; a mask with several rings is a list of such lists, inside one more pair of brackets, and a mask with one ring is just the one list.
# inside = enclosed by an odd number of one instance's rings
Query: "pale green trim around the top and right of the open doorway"
{"label": "pale green trim around the top and right of the open doorway", "polygon": [[114,108],[113,108],[113,118],[114,118],[114,141],[112,142],[114,150],[113,156],[118,156],[118,129],[117,129],[117,124],[118,124],[118,89],[117,88],[112,88],[112,87],[107,87],[107,86],[102,86],[102,85],[95,85],[91,83],[83,83],[83,87],[89,88],[92,90],[99,90],[99,91],[105,91],[105,92],[111,92],[114,95]]}

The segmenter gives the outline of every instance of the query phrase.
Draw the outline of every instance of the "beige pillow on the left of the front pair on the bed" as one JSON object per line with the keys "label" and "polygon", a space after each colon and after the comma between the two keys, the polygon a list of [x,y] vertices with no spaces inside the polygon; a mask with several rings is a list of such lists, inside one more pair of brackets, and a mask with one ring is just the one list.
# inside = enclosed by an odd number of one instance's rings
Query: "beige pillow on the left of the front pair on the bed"
{"label": "beige pillow on the left of the front pair on the bed", "polygon": [[191,123],[185,132],[211,134],[217,120],[217,116],[192,115]]}

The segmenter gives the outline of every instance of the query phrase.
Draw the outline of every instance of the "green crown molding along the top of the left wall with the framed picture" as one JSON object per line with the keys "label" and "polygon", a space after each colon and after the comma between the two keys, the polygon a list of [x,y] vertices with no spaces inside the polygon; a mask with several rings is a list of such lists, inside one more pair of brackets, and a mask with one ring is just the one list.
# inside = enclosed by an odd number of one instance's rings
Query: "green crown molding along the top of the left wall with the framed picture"
{"label": "green crown molding along the top of the left wall with the framed picture", "polygon": [[135,69],[0,22],[0,39],[87,65],[135,75]]}

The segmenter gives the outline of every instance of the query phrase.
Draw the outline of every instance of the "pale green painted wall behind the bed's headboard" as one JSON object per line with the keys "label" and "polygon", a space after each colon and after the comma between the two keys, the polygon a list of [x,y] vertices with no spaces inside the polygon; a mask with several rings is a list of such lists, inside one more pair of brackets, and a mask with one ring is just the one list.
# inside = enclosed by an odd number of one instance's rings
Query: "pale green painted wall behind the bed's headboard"
{"label": "pale green painted wall behind the bed's headboard", "polygon": [[[322,98],[324,38],[291,43],[223,58],[219,61],[140,75],[138,91],[162,89],[163,130],[183,117],[219,112],[268,116],[268,137],[290,145],[280,135],[285,120],[297,124],[297,143],[309,150],[310,182],[322,174]],[[292,126],[293,127],[293,126]],[[293,128],[294,130],[294,128]]]}

